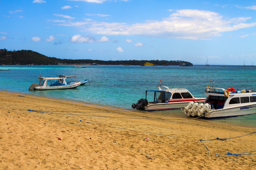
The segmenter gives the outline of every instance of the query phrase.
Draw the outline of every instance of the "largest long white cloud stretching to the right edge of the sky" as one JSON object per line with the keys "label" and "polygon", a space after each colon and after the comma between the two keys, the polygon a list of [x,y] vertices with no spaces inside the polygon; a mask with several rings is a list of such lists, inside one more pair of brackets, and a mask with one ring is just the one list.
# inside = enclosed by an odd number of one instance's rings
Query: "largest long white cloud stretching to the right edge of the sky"
{"label": "largest long white cloud stretching to the right edge of the sky", "polygon": [[256,22],[247,23],[251,17],[224,19],[219,13],[181,9],[170,10],[173,13],[161,21],[144,23],[108,23],[108,22],[66,22],[63,26],[79,25],[81,31],[105,35],[144,35],[150,37],[168,37],[177,39],[211,39],[223,32],[235,31],[256,26]]}

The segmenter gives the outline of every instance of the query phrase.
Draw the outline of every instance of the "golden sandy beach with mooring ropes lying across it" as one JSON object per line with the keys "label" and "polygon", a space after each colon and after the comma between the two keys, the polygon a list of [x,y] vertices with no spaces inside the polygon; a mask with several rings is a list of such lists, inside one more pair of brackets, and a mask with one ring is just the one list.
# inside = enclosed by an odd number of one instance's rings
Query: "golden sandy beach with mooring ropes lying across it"
{"label": "golden sandy beach with mooring ropes lying across it", "polygon": [[256,128],[184,119],[0,92],[0,169],[256,170]]}

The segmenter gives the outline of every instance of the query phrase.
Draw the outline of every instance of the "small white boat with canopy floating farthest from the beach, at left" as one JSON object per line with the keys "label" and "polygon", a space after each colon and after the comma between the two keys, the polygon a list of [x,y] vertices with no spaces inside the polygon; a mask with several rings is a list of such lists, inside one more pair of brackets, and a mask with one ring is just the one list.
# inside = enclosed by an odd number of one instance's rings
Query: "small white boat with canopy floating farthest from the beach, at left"
{"label": "small white boat with canopy floating farthest from the beach, at left", "polygon": [[55,90],[55,89],[70,89],[76,88],[81,84],[78,82],[66,82],[66,77],[38,77],[39,83],[32,84],[29,90]]}

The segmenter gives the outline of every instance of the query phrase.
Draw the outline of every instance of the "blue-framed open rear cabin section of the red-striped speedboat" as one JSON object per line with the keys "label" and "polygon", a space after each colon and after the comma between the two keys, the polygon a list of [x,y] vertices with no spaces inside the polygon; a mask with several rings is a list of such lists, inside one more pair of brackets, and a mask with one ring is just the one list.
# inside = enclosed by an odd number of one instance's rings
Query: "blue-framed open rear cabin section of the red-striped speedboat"
{"label": "blue-framed open rear cabin section of the red-striped speedboat", "polygon": [[[150,95],[148,95],[150,93]],[[152,95],[154,93],[154,95]],[[146,99],[148,101],[154,101],[155,103],[168,103],[172,93],[161,90],[148,90],[146,91]],[[154,98],[153,98],[154,97]]]}

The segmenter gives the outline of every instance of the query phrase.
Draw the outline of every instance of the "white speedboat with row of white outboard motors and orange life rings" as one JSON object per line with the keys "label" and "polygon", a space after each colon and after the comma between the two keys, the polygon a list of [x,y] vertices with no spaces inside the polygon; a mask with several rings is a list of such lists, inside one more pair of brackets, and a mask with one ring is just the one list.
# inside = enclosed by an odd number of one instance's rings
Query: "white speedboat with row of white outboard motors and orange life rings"
{"label": "white speedboat with row of white outboard motors and orange life rings", "polygon": [[233,87],[223,89],[205,88],[208,95],[205,102],[190,102],[182,109],[187,116],[206,118],[240,116],[256,113],[256,92],[251,90],[236,91]]}

